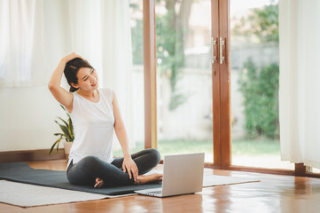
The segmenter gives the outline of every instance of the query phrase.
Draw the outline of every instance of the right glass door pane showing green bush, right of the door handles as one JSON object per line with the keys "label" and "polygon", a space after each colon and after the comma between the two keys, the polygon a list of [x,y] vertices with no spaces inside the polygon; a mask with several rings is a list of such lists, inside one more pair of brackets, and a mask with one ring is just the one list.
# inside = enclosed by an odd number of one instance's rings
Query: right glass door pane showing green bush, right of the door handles
{"label": "right glass door pane showing green bush, right of the door handles", "polygon": [[294,169],[281,162],[277,0],[230,1],[232,164]]}

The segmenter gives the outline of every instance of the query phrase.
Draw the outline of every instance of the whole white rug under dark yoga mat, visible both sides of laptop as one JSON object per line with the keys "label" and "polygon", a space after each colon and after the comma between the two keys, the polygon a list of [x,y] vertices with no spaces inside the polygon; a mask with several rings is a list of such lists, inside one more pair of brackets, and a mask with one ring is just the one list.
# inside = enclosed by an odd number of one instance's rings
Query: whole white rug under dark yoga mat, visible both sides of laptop
{"label": "whole white rug under dark yoga mat, visible both sides of laptop", "polygon": [[[149,174],[155,172],[161,173],[162,171],[152,170],[152,172],[149,172]],[[234,185],[258,181],[260,180],[246,179],[241,177],[207,175],[203,177],[203,186]],[[68,202],[93,201],[134,194],[136,193],[111,196],[0,180],[0,202],[9,203],[20,207],[35,207]]]}

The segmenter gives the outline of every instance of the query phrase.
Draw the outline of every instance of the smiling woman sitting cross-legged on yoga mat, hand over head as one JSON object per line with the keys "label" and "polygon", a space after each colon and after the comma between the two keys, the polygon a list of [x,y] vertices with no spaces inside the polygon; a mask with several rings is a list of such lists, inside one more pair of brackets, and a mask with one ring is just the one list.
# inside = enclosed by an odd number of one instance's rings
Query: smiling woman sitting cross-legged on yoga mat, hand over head
{"label": "smiling woman sitting cross-legged on yoga mat, hand over head", "polygon": [[[60,86],[65,74],[70,91]],[[145,184],[161,181],[162,175],[143,176],[160,162],[156,149],[129,154],[128,136],[114,92],[98,89],[98,75],[88,61],[71,53],[61,59],[51,75],[49,90],[66,107],[74,124],[74,145],[66,176],[74,185]],[[113,129],[123,158],[113,159]]]}

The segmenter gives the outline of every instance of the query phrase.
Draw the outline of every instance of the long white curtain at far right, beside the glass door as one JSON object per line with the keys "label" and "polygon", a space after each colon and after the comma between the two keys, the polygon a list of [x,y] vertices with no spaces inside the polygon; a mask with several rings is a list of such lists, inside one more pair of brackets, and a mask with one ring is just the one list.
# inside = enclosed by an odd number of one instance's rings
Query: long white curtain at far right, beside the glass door
{"label": "long white curtain at far right, beside the glass door", "polygon": [[281,157],[320,168],[320,1],[279,1]]}

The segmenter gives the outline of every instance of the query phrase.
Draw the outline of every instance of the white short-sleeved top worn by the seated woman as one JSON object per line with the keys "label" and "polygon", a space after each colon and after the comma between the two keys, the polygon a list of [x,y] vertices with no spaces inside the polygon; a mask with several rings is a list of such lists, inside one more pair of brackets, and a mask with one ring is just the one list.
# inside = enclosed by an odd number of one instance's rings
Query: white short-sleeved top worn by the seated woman
{"label": "white short-sleeved top worn by the seated woman", "polygon": [[105,162],[113,161],[113,91],[98,89],[98,103],[73,92],[71,120],[74,124],[74,144],[69,154],[69,166],[83,157],[93,155]]}

